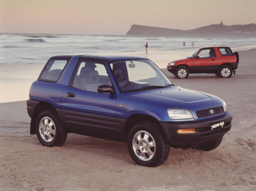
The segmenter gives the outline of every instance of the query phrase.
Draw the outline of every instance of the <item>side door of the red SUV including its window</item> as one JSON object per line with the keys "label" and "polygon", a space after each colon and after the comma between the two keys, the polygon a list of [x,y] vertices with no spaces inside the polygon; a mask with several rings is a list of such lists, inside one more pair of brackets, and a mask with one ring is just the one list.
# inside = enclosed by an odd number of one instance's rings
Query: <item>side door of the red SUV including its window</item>
{"label": "side door of the red SUV including its window", "polygon": [[203,48],[193,59],[191,71],[193,73],[214,73],[218,60],[214,48]]}

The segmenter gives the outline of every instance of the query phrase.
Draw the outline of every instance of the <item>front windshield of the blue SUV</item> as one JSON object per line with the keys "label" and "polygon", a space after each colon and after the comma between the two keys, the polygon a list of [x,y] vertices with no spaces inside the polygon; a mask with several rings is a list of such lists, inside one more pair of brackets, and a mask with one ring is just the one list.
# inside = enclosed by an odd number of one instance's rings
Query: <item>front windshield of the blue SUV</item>
{"label": "front windshield of the blue SUV", "polygon": [[167,88],[171,81],[150,60],[119,61],[110,64],[121,92]]}

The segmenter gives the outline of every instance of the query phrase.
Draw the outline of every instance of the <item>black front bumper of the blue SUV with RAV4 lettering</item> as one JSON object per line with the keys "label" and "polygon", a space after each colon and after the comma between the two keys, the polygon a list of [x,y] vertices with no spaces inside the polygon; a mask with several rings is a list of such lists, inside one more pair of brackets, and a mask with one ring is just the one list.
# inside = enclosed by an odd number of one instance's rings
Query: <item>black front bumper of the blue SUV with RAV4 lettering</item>
{"label": "black front bumper of the blue SUV with RAV4 lettering", "polygon": [[[173,145],[196,145],[203,142],[208,142],[219,137],[222,137],[228,132],[232,125],[233,114],[227,114],[211,119],[200,121],[181,121],[181,122],[163,122],[160,124],[163,128],[166,140],[171,146]],[[211,125],[224,121],[223,127],[219,126],[213,130]],[[195,128],[195,133],[179,134],[178,129]]]}

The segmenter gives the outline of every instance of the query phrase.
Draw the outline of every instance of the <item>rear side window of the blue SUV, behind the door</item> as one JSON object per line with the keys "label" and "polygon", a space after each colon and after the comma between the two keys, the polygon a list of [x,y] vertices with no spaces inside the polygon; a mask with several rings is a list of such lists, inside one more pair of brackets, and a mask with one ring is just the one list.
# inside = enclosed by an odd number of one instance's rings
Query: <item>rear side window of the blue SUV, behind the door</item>
{"label": "rear side window of the blue SUV, behind the door", "polygon": [[68,59],[51,59],[44,67],[39,80],[47,82],[58,82],[67,63]]}

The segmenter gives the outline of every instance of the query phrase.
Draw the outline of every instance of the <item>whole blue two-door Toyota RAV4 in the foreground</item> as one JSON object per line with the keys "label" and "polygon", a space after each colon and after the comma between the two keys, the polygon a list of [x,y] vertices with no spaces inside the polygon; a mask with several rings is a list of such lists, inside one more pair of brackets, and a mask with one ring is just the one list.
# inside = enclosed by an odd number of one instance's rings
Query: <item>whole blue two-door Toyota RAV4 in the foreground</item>
{"label": "whole blue two-door Toyota RAV4 in the foreground", "polygon": [[174,148],[213,150],[232,113],[214,96],[174,84],[149,59],[112,54],[55,56],[30,88],[30,134],[61,146],[67,133],[127,142],[139,165],[163,164]]}

